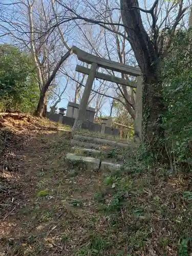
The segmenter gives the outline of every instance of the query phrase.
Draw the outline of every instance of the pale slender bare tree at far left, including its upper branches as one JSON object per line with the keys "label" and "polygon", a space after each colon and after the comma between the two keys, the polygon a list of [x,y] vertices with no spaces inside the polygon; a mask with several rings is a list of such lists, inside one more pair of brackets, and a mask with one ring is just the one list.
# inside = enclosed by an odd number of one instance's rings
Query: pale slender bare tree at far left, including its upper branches
{"label": "pale slender bare tree at far left, including its upper branches", "polygon": [[14,42],[17,41],[31,54],[40,92],[35,114],[45,116],[50,86],[63,62],[69,57],[70,47],[59,26],[57,31],[49,32],[52,23],[57,21],[53,0],[51,3],[43,0],[20,0],[11,2],[10,6],[12,9],[4,20],[7,25],[2,27],[9,38],[12,37]]}

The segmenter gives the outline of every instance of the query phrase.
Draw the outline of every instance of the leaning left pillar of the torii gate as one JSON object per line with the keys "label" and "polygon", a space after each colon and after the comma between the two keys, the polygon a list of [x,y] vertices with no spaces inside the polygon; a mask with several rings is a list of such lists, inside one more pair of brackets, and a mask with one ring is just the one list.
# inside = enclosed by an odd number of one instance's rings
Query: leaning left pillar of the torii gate
{"label": "leaning left pillar of the torii gate", "polygon": [[81,129],[82,123],[84,121],[84,117],[86,115],[87,105],[88,105],[89,97],[91,94],[93,82],[95,79],[95,74],[97,72],[97,68],[98,68],[98,65],[96,63],[92,63],[91,70],[86,82],[86,87],[84,88],[83,95],[80,101],[78,115],[72,127],[72,132],[76,132]]}

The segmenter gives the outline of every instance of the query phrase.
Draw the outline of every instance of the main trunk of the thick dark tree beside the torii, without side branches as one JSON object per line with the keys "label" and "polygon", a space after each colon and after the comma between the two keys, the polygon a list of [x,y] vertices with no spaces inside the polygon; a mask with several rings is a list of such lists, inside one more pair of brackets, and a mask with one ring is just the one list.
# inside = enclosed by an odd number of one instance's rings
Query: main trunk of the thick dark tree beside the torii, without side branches
{"label": "main trunk of the thick dark tree beside the torii, without side branches", "polygon": [[159,152],[164,111],[160,79],[160,58],[144,29],[138,0],[121,0],[121,14],[127,37],[143,75],[143,139],[154,153]]}

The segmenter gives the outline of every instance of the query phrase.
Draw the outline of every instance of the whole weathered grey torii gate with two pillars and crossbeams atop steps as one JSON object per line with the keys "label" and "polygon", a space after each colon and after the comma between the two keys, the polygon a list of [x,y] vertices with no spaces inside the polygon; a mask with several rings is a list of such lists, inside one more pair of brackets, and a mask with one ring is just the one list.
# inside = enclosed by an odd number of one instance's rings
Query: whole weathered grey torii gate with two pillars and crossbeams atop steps
{"label": "whole weathered grey torii gate with two pillars and crossbeams atop steps", "polygon": [[[78,60],[91,64],[91,69],[88,69],[79,65],[76,66],[76,71],[81,72],[83,74],[87,74],[88,79],[87,79],[86,87],[84,88],[83,95],[80,101],[78,116],[75,119],[75,123],[72,127],[72,131],[75,132],[81,129],[81,125],[86,114],[86,109],[87,109],[89,97],[91,94],[93,82],[96,77],[99,79],[123,84],[125,86],[137,88],[134,130],[135,130],[135,134],[141,139],[141,136],[142,136],[142,79],[141,79],[140,69],[129,66],[129,65],[125,65],[123,63],[118,63],[116,61],[100,58],[98,56],[84,52],[75,46],[71,48],[71,53],[76,54]],[[135,76],[137,77],[137,82],[133,84],[126,79],[99,73],[97,72],[98,67],[110,69],[123,74],[131,75],[131,76]]]}

